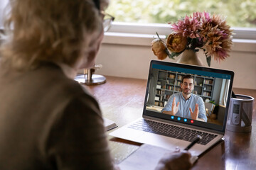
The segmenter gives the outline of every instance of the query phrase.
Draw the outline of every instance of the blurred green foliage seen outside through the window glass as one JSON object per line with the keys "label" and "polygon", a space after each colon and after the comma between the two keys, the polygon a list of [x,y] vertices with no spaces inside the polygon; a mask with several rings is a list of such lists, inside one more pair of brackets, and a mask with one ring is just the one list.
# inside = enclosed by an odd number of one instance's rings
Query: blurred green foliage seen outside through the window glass
{"label": "blurred green foliage seen outside through the window glass", "polygon": [[175,23],[196,11],[224,16],[233,27],[256,28],[255,0],[110,0],[107,13],[115,21]]}

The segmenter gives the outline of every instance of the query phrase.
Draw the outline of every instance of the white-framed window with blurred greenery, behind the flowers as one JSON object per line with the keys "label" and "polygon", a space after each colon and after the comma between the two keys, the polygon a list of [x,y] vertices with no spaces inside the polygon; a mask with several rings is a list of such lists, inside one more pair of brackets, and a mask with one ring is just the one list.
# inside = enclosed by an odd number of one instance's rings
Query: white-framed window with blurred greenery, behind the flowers
{"label": "white-framed window with blurred greenery, behind the flowers", "polygon": [[255,52],[255,8],[255,0],[110,0],[107,13],[115,20],[103,43],[147,46],[156,32],[161,38],[171,33],[169,22],[207,11],[227,18],[233,28],[235,50]]}

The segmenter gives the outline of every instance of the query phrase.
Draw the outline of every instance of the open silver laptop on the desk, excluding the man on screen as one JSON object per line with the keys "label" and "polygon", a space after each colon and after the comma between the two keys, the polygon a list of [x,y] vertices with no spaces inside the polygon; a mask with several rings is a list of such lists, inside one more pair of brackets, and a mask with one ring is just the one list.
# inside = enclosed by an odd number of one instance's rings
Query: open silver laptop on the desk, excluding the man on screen
{"label": "open silver laptop on the desk, excluding the man on screen", "polygon": [[[171,96],[181,93],[181,79],[186,74],[194,79],[193,94],[202,98],[203,103],[215,102],[224,109],[218,111],[217,106],[214,111],[199,109],[206,115],[205,121],[162,113]],[[201,135],[203,139],[189,149],[193,156],[200,156],[223,140],[233,79],[234,72],[228,70],[152,60],[142,118],[110,135],[169,150],[176,147],[182,150]]]}

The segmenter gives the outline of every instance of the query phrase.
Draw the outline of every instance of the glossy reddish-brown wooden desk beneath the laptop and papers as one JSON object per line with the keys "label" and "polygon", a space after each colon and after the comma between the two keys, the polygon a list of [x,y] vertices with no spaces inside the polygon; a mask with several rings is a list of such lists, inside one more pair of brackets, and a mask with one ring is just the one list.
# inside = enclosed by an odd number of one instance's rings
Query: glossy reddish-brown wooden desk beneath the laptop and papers
{"label": "glossy reddish-brown wooden desk beneath the laptop and papers", "polygon": [[[114,120],[119,127],[142,117],[146,80],[107,77],[106,84],[88,87],[99,101],[103,116]],[[235,94],[256,98],[256,90],[233,89],[233,91]],[[225,140],[203,154],[193,169],[255,169],[256,100],[253,106],[252,132],[242,134],[226,131]],[[140,146],[136,142],[121,140],[110,135],[107,137],[116,163]]]}

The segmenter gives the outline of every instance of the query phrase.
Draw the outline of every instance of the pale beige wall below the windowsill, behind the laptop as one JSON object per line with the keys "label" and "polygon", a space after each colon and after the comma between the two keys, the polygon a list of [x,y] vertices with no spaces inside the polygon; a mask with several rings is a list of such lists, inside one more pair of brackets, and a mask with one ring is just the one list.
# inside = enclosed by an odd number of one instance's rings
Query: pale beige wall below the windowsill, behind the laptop
{"label": "pale beige wall below the windowsill, behind the laptop", "polygon": [[[103,67],[96,74],[147,79],[149,62],[156,60],[150,47],[152,39],[142,40],[143,38],[134,38],[136,42],[132,43],[124,42],[127,38],[123,38],[124,40],[120,39],[120,37],[115,40],[112,39],[106,36],[105,40],[103,40],[96,60],[96,64],[102,64]],[[145,41],[148,45],[145,45]],[[233,70],[235,72],[233,87],[235,88],[256,89],[255,40],[249,43],[240,40],[234,41],[230,57],[220,63],[212,60],[211,67]],[[206,58],[203,53],[199,52],[198,55],[207,67]],[[164,61],[176,62],[176,60],[169,58]]]}

